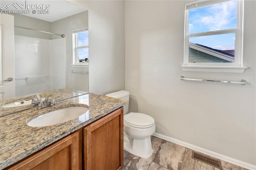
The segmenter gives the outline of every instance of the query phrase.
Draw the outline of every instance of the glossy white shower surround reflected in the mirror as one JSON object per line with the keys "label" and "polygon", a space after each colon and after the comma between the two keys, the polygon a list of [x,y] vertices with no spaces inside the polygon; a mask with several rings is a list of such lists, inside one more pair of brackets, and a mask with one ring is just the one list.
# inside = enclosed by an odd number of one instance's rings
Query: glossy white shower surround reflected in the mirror
{"label": "glossy white shower surround reflected in the mirror", "polygon": [[66,38],[14,39],[16,96],[66,87]]}

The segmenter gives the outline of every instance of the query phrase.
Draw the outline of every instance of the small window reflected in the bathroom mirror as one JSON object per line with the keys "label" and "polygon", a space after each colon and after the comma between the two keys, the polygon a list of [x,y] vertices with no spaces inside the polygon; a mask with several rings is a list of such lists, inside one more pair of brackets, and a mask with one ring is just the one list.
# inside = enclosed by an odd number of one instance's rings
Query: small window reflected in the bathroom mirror
{"label": "small window reflected in the bathroom mirror", "polygon": [[88,28],[73,30],[73,64],[88,64],[89,42]]}

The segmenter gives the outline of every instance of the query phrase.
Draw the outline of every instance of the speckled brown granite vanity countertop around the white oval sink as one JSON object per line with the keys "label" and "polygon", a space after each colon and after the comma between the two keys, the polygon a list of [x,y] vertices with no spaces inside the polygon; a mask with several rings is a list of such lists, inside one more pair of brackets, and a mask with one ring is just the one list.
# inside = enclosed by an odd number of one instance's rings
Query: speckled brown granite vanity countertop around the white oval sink
{"label": "speckled brown granite vanity countertop around the white oval sink", "polygon": [[[68,134],[126,104],[125,100],[88,93],[58,102],[57,107],[36,108],[0,117],[0,169],[33,154]],[[65,107],[82,106],[89,110],[76,119],[47,127],[26,125],[39,115]]]}

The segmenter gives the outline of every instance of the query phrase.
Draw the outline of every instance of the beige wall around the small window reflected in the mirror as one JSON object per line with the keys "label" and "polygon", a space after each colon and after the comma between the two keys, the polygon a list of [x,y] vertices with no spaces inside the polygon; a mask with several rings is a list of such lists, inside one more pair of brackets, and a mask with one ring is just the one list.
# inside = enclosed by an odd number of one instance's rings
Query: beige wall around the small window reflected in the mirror
{"label": "beige wall around the small window reflected in the mirror", "polygon": [[[73,64],[72,30],[87,27],[88,11],[81,12],[79,14],[72,15],[51,23],[51,32],[64,34],[66,38],[66,88],[68,89],[89,91],[88,73],[70,73],[70,70],[88,71],[88,68],[77,68],[70,66],[70,64]],[[52,39],[56,38],[60,38],[60,36],[52,36]]]}

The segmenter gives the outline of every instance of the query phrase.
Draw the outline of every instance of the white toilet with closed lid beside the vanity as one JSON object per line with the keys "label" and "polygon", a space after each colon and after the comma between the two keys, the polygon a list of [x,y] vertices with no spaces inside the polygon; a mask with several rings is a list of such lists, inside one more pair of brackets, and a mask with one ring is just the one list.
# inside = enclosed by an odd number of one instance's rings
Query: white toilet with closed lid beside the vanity
{"label": "white toilet with closed lid beside the vanity", "polygon": [[124,150],[142,158],[152,155],[152,144],[150,136],[156,130],[155,120],[143,113],[128,113],[129,105],[128,91],[117,91],[106,96],[127,100],[124,105]]}

